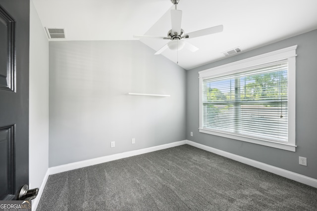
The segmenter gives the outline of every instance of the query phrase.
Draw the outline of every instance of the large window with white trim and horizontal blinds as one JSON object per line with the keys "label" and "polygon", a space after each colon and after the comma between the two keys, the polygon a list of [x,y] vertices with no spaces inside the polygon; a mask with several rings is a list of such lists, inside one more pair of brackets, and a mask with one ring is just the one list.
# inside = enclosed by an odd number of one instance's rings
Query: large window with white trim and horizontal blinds
{"label": "large window with white trim and horizontal blinds", "polygon": [[200,132],[295,151],[296,47],[201,71]]}

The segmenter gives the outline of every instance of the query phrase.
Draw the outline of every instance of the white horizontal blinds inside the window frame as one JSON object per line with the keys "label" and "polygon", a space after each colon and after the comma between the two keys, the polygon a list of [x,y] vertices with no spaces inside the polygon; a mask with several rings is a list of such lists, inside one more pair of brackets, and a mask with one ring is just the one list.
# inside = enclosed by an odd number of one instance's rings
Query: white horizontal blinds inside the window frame
{"label": "white horizontal blinds inside the window frame", "polygon": [[202,128],[287,142],[287,60],[205,78],[201,97]]}

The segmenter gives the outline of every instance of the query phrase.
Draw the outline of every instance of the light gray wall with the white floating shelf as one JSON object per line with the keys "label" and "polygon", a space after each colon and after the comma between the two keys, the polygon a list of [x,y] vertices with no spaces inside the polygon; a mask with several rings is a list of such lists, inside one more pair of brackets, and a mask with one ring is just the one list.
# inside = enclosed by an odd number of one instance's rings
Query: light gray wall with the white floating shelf
{"label": "light gray wall with the white floating shelf", "polygon": [[186,138],[186,71],[154,53],[139,41],[50,42],[50,167]]}

